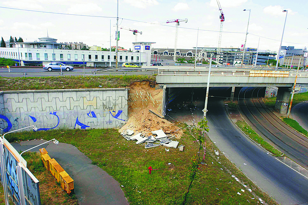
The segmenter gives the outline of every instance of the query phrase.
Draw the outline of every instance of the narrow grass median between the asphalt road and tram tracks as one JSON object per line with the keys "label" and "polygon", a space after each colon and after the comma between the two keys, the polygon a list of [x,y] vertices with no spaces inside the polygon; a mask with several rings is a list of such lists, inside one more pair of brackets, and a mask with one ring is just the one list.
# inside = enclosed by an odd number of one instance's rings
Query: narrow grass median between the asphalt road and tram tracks
{"label": "narrow grass median between the asphalt road and tram tracks", "polygon": [[267,141],[265,141],[260,135],[258,135],[244,120],[238,120],[236,125],[252,140],[259,144],[262,148],[271,152],[274,156],[281,156],[283,153],[275,149]]}

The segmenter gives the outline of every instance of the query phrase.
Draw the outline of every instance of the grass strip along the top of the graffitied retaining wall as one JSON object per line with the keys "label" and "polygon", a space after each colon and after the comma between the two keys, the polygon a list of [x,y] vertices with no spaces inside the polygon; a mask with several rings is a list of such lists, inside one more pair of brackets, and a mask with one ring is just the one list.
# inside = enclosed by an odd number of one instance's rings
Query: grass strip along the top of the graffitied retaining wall
{"label": "grass strip along the top of the graffitied retaining wall", "polygon": [[0,77],[0,90],[54,90],[86,88],[127,88],[134,81],[155,82],[155,76],[145,75],[104,75],[65,77]]}

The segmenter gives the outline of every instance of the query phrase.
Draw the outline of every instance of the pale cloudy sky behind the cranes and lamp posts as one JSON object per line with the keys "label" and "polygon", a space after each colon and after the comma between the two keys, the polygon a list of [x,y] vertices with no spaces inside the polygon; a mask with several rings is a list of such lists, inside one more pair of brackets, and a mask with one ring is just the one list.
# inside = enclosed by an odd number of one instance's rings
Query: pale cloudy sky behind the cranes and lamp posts
{"label": "pale cloudy sky behind the cranes and lamp posts", "polygon": [[[282,46],[301,49],[308,46],[308,1],[219,2],[225,16],[222,48],[240,48],[244,44],[249,9],[246,48],[259,45],[259,50],[278,51],[286,17],[282,10],[288,11]],[[218,46],[221,23],[217,0],[119,0],[118,16],[119,27],[142,31],[138,42],[155,42],[153,48],[174,49],[176,23],[166,22],[185,18],[188,22],[180,22],[178,30],[178,49]],[[56,38],[58,43],[83,42],[88,46],[109,48],[110,25],[111,46],[115,46],[116,22],[116,0],[0,0],[0,36],[5,40],[13,36],[33,42],[46,37],[48,30],[48,36]],[[119,30],[119,46],[132,48],[133,33]]]}

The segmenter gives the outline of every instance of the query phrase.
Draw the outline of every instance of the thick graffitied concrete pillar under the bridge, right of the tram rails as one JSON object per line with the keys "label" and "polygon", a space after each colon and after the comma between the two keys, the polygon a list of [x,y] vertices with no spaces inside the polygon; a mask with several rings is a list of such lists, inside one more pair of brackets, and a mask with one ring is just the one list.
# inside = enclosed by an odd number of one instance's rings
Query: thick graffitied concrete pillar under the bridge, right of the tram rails
{"label": "thick graffitied concrete pillar under the bridge, right of the tram rails", "polygon": [[278,87],[275,110],[278,110],[281,114],[286,114],[287,112],[291,91],[292,88]]}

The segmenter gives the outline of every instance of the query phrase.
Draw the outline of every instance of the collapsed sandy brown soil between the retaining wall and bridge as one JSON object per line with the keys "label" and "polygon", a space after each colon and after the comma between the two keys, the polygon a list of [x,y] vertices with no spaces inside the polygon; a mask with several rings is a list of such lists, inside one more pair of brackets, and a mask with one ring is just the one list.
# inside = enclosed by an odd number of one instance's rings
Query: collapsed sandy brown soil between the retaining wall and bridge
{"label": "collapsed sandy brown soil between the retaining wall and bridge", "polygon": [[181,138],[183,132],[172,122],[160,118],[149,110],[161,115],[163,90],[155,89],[149,81],[135,82],[130,85],[128,93],[128,121],[119,130],[133,130],[135,133],[151,135],[151,131],[162,129],[166,134]]}

